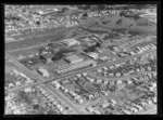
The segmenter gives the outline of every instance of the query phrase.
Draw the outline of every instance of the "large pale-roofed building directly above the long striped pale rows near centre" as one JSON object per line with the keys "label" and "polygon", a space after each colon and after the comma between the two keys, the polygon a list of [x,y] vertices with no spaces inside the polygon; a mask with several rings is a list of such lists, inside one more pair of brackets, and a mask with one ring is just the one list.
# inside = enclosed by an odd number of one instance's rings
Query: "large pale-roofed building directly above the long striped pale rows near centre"
{"label": "large pale-roofed building directly above the long striped pale rows near centre", "polygon": [[77,55],[71,55],[71,56],[67,56],[66,59],[70,64],[77,64],[77,63],[80,63],[84,61],[84,58],[77,56]]}

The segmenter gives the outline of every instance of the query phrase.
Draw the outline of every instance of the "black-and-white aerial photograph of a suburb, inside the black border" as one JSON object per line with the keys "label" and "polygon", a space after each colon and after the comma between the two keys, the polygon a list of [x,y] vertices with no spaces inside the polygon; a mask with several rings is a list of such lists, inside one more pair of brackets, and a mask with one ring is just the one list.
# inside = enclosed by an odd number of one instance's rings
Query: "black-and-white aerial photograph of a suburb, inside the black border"
{"label": "black-and-white aerial photograph of a suburb, inside the black border", "polygon": [[158,114],[158,4],[3,8],[4,116]]}

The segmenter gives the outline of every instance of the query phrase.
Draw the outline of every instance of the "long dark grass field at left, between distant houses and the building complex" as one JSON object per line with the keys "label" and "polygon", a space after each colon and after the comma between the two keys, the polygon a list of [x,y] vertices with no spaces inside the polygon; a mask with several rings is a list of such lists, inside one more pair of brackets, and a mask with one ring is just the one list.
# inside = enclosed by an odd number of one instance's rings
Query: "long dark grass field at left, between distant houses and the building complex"
{"label": "long dark grass field at left, between distant houses and the building complex", "polygon": [[21,48],[27,48],[32,45],[38,45],[46,42],[58,41],[65,38],[64,32],[67,32],[72,28],[51,29],[43,32],[34,32],[28,36],[24,36],[25,40],[5,43],[5,51],[16,50]]}

